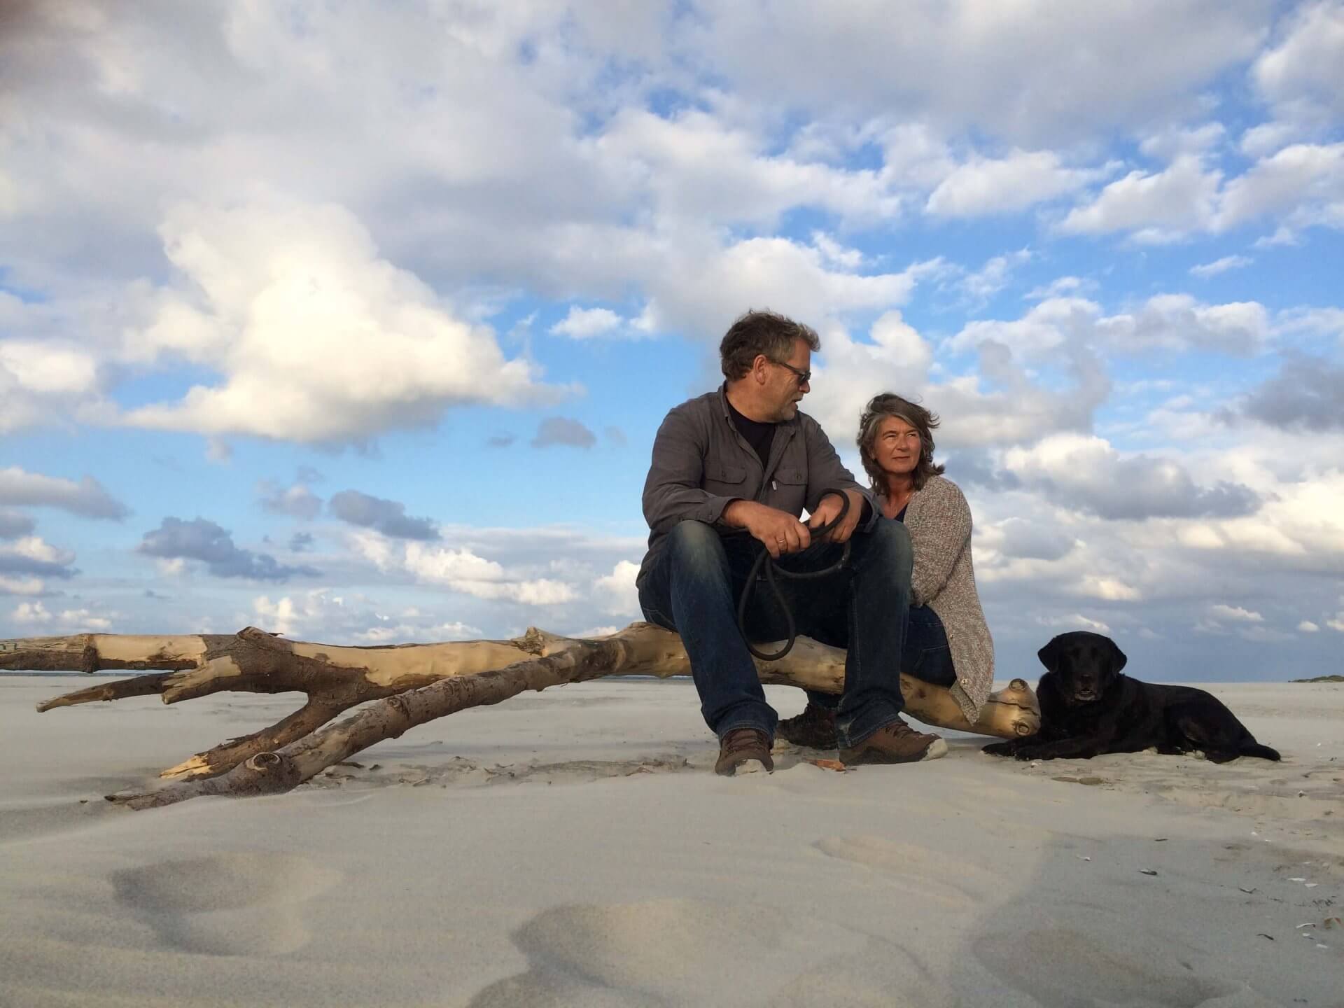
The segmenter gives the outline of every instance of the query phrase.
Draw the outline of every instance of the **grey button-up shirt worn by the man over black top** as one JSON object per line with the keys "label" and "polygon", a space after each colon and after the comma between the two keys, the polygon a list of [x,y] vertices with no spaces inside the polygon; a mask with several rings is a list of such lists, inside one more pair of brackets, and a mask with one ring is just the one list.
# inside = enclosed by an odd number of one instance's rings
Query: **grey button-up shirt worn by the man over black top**
{"label": "grey button-up shirt worn by the man over black top", "polygon": [[855,482],[829,438],[812,417],[798,413],[775,425],[770,461],[765,465],[728,415],[724,386],[672,409],[657,437],[644,481],[644,517],[649,551],[636,583],[644,581],[677,521],[692,519],[722,524],[723,508],[734,500],[755,500],[794,517],[817,509],[831,489],[859,491],[870,505],[864,528],[878,519],[872,493]]}

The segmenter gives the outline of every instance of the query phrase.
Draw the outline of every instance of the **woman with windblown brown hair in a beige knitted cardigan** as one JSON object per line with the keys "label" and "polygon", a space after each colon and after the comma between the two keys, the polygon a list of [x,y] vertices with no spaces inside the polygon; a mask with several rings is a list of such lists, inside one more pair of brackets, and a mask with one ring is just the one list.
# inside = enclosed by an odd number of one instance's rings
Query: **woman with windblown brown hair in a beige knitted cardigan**
{"label": "woman with windblown brown hair in a beige knitted cardigan", "polygon": [[[910,613],[900,671],[949,687],[974,723],[989,696],[995,645],[970,563],[970,508],[933,461],[937,414],[886,392],[859,418],[859,456],[884,517],[905,521],[914,546]],[[780,722],[798,746],[835,749],[835,696],[808,692],[808,707]]]}

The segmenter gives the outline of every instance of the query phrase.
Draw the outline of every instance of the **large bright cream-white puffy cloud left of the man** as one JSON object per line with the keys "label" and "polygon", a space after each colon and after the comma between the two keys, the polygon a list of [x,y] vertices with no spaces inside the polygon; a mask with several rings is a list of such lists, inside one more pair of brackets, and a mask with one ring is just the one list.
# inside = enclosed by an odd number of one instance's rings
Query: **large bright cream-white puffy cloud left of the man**
{"label": "large bright cream-white puffy cloud left of the man", "polygon": [[460,321],[413,274],[378,258],[335,206],[180,206],[163,227],[169,258],[199,288],[161,292],[157,320],[128,337],[146,362],[216,368],[218,384],[144,406],[126,422],[204,434],[360,441],[429,426],[468,402],[546,392],[488,329]]}

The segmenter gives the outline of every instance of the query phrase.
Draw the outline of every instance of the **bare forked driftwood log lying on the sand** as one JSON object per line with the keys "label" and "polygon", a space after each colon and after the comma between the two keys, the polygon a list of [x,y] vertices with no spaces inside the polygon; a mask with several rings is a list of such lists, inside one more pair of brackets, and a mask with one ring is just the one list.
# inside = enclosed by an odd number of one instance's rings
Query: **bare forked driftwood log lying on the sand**
{"label": "bare forked driftwood log lying on the sand", "polygon": [[[832,694],[844,684],[844,652],[806,637],[800,637],[781,661],[758,661],[757,667],[763,683]],[[417,724],[500,703],[524,689],[603,676],[691,673],[681,638],[644,622],[591,640],[531,628],[507,641],[372,648],[290,641],[254,626],[235,634],[27,637],[0,641],[0,668],[90,673],[168,669],[77,689],[39,704],[39,711],[153,694],[164,703],[223,691],[306,695],[302,707],[276,724],[168,767],[160,777],[169,784],[108,796],[133,809],[200,794],[285,792]],[[1001,738],[1034,734],[1040,724],[1036,696],[1020,679],[992,695],[974,724],[966,722],[948,689],[905,675],[900,684],[909,712],[929,724]],[[376,703],[328,724],[370,700]]]}

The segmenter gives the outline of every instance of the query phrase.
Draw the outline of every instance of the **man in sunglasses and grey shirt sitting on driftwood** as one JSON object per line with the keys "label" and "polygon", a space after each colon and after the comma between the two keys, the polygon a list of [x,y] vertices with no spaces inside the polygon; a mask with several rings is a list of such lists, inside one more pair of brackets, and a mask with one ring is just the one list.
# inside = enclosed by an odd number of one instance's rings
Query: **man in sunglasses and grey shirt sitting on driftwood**
{"label": "man in sunglasses and grey shirt sitting on driftwood", "polygon": [[[723,336],[727,379],[668,413],[644,484],[649,551],[640,606],[649,622],[681,634],[700,711],[719,737],[715,771],[774,769],[778,715],[766,703],[737,624],[737,605],[763,547],[786,570],[824,570],[851,542],[849,563],[810,581],[780,579],[798,633],[848,648],[836,710],[847,765],[939,757],[948,745],[900,719],[900,652],[910,610],[910,536],[879,521],[825,433],[798,411],[810,390],[817,333],[773,312],[747,312]],[[833,491],[833,492],[832,492]],[[816,530],[849,508],[825,542]],[[806,508],[806,524],[798,520]],[[786,636],[769,591],[753,593],[751,640]]]}

